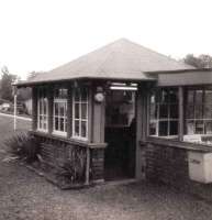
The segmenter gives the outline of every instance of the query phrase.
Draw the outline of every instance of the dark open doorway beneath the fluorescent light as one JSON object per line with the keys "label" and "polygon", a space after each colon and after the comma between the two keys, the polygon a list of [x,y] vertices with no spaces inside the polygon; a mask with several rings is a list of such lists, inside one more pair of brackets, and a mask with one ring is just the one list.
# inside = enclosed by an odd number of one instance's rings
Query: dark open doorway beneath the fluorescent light
{"label": "dark open doorway beneath the fluorescent light", "polygon": [[105,106],[105,180],[135,175],[135,91],[110,90]]}

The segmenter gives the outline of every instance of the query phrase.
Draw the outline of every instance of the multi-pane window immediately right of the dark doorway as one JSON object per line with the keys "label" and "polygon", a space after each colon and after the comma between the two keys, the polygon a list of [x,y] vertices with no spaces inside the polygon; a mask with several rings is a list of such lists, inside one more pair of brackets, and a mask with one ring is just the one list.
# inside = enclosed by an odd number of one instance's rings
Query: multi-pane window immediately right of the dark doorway
{"label": "multi-pane window immediately right of the dark doorway", "polygon": [[178,89],[161,88],[150,96],[149,135],[178,134]]}

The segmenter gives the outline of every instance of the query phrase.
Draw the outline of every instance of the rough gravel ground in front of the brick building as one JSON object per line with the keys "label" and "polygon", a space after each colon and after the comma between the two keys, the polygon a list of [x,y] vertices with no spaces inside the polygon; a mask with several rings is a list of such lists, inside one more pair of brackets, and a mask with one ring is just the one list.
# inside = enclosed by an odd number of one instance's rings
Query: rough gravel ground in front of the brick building
{"label": "rough gravel ground in front of the brick building", "polygon": [[[11,135],[1,130],[1,140]],[[3,163],[4,156],[0,151],[0,220],[212,219],[211,204],[166,186],[107,184],[63,191],[16,162]]]}

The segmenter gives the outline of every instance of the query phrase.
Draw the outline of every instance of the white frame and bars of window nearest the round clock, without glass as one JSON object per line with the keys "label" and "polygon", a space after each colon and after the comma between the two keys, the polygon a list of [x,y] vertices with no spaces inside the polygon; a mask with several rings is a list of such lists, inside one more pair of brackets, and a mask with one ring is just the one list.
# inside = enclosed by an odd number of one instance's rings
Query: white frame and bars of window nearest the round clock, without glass
{"label": "white frame and bars of window nearest the round clock, without glass", "polygon": [[[79,89],[79,101],[76,101],[76,90]],[[88,141],[88,99],[89,99],[89,90],[87,88],[87,100],[86,101],[81,101],[81,88],[75,88],[74,92],[72,92],[72,138],[74,139],[78,139],[81,141]],[[75,105],[78,103],[79,105],[79,119],[76,119],[75,116]],[[81,106],[82,105],[87,105],[87,111],[86,111],[86,119],[81,119]],[[76,121],[79,121],[79,135],[76,135],[75,132],[75,125],[76,125]],[[86,122],[86,136],[81,135],[81,122]]]}

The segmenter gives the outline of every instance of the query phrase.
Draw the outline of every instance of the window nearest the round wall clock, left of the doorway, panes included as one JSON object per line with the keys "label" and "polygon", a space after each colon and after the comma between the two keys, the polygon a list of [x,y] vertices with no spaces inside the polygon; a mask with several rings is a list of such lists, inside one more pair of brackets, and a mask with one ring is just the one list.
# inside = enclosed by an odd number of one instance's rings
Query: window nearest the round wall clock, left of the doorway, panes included
{"label": "window nearest the round wall clock, left of the doorway, panes included", "polygon": [[88,89],[83,87],[74,90],[72,136],[88,139]]}

